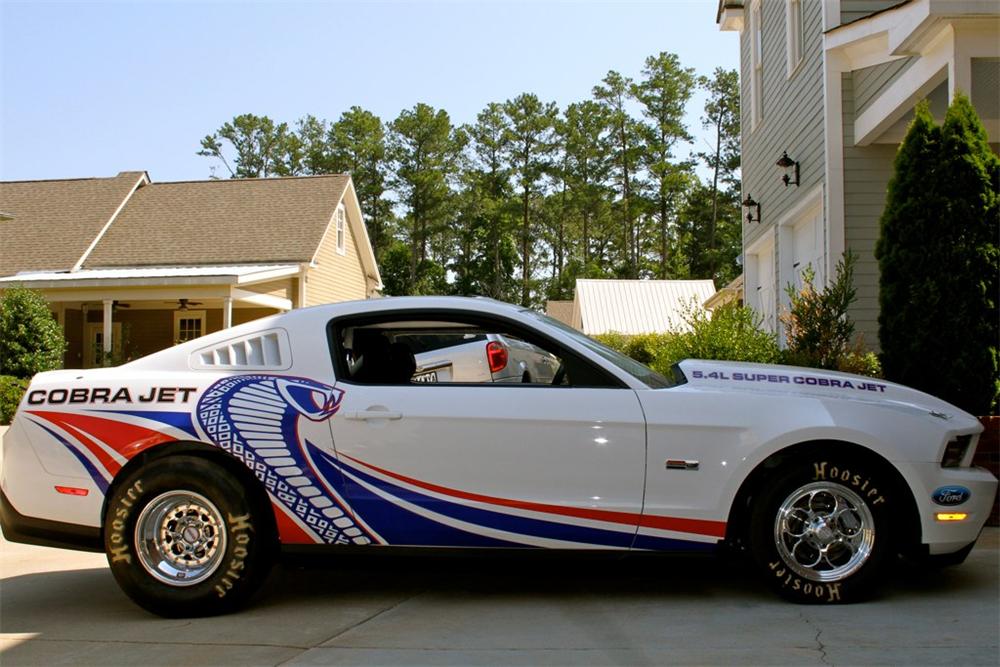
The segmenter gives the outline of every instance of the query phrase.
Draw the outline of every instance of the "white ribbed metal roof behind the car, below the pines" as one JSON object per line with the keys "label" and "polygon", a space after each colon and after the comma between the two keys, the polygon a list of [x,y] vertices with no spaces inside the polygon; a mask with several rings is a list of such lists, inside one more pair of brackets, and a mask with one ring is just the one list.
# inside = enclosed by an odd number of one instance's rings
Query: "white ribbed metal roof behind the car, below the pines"
{"label": "white ribbed metal roof behind the car, below the pines", "polygon": [[577,280],[571,325],[585,334],[686,331],[686,315],[713,294],[711,280]]}

